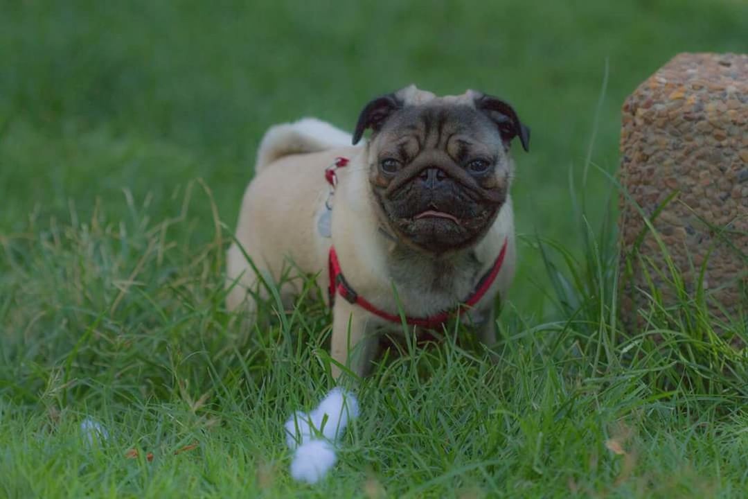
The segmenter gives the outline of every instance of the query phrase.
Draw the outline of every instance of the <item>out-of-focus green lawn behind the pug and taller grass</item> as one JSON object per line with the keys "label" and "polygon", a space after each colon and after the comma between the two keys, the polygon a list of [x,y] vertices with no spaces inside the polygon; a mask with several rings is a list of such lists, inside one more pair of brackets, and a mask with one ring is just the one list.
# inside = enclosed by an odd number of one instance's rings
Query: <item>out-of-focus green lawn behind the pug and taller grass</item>
{"label": "out-of-focus green lawn behind the pug and taller grass", "polygon": [[[96,198],[130,216],[123,189],[159,221],[196,177],[233,227],[268,126],[314,115],[352,129],[367,100],[414,82],[515,105],[533,130],[529,154],[515,147],[518,231],[574,248],[569,172],[606,65],[592,159],[613,172],[623,100],[684,51],[748,52],[748,2],[2,1],[0,234],[69,218],[71,202],[85,218]],[[592,176],[593,215],[608,185]],[[209,239],[204,197],[190,215]],[[529,307],[543,271],[521,251],[513,298]]]}

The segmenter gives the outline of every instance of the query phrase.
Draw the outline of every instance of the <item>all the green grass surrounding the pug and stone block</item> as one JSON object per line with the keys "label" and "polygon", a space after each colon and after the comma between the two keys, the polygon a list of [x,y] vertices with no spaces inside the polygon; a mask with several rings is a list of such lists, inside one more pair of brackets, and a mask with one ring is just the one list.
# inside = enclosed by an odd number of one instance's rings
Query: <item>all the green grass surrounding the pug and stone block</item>
{"label": "all the green grass surrounding the pug and stone block", "polygon": [[[655,293],[624,331],[607,209],[624,97],[677,52],[748,52],[740,1],[1,11],[0,497],[748,495],[745,318]],[[271,327],[240,328],[224,250],[267,126],[350,129],[410,82],[506,97],[533,129],[499,361],[462,329],[390,352],[300,486],[282,425],[333,386],[330,317],[269,302]]]}

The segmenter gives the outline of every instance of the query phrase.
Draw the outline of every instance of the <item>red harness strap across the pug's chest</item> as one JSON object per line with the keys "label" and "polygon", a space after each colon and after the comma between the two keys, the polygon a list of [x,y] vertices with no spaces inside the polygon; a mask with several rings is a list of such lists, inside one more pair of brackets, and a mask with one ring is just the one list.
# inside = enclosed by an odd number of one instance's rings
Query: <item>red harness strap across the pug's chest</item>
{"label": "red harness strap across the pug's chest", "polygon": [[[468,299],[464,301],[462,306],[458,306],[453,310],[446,310],[428,317],[405,316],[405,322],[410,325],[420,325],[424,328],[436,328],[444,324],[444,322],[447,322],[447,319],[449,319],[450,316],[460,316],[465,312],[465,310],[473,307],[473,305],[478,303],[478,301],[480,301],[480,299],[485,296],[485,293],[488,293],[488,290],[491,288],[491,284],[494,284],[496,276],[499,275],[501,266],[504,263],[504,256],[506,255],[506,242],[508,240],[509,238],[504,239],[504,243],[501,246],[501,251],[499,251],[499,256],[496,257],[494,265],[491,267],[491,269],[488,270],[488,272],[485,273],[485,275],[483,275],[482,278],[480,278],[480,281],[478,281],[475,290],[473,290],[473,293],[468,296]],[[330,293],[331,307],[335,301],[335,295],[339,294],[340,296],[343,296],[343,298],[346,299],[346,301],[348,301],[349,303],[358,305],[364,310],[370,311],[375,316],[381,317],[382,319],[389,322],[396,322],[398,324],[402,322],[399,315],[387,313],[384,310],[380,310],[375,307],[370,301],[364,299],[364,297],[358,296],[353,288],[346,282],[346,278],[343,278],[343,271],[340,269],[340,262],[337,260],[337,254],[335,253],[334,246],[330,247],[330,259],[328,264],[330,272],[330,286],[328,288],[328,292]]]}

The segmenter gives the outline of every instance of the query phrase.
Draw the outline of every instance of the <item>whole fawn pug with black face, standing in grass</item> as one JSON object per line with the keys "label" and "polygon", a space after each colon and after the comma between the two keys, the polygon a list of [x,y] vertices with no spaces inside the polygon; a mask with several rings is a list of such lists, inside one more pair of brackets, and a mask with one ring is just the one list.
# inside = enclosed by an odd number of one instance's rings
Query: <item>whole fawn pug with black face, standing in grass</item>
{"label": "whole fawn pug with black face, standing in grass", "polygon": [[[452,316],[491,346],[515,272],[515,138],[528,150],[503,100],[414,85],[365,105],[353,135],[313,118],[272,126],[227,254],[227,307],[252,319],[289,269],[316,275],[336,377],[367,374],[383,332],[419,337]],[[303,283],[283,280],[283,302]]]}

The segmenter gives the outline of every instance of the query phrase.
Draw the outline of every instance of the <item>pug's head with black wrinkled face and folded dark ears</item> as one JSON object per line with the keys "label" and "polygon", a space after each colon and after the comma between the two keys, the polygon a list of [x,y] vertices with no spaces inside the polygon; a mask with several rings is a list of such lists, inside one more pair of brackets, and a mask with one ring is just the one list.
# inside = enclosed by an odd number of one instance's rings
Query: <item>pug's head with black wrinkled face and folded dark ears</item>
{"label": "pug's head with black wrinkled face and folded dark ears", "polygon": [[354,144],[366,129],[379,216],[399,240],[431,254],[485,235],[509,192],[509,144],[530,143],[530,129],[496,97],[436,97],[412,85],[364,107]]}

